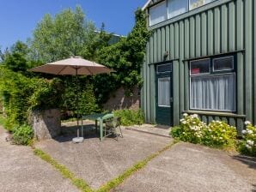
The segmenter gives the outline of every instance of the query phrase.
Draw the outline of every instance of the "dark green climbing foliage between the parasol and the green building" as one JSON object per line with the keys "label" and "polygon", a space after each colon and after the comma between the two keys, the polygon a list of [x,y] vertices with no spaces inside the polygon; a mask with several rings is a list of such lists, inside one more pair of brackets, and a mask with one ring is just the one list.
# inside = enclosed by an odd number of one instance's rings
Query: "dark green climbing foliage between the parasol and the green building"
{"label": "dark green climbing foliage between the parasol and the green building", "polygon": [[141,9],[135,12],[135,26],[127,38],[120,39],[117,44],[103,47],[98,54],[98,62],[116,70],[113,75],[104,78],[95,77],[97,98],[104,103],[107,94],[118,87],[125,87],[131,93],[134,87],[142,84],[140,70],[145,55],[145,47],[150,36],[146,15]]}

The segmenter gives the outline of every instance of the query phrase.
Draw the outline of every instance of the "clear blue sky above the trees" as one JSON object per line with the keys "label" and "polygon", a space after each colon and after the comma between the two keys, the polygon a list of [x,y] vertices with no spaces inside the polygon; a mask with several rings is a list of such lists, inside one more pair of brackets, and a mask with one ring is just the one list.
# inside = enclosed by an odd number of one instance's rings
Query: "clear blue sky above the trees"
{"label": "clear blue sky above the trees", "polygon": [[62,9],[82,7],[96,27],[105,23],[111,33],[126,35],[134,25],[134,11],[147,0],[0,0],[0,46],[26,41],[43,15],[55,15]]}

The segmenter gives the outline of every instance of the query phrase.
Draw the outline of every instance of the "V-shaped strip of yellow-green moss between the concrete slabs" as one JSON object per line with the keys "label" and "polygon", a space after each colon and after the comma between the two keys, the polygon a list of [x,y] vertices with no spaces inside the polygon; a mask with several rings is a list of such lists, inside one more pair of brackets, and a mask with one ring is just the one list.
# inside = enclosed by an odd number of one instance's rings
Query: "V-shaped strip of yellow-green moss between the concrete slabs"
{"label": "V-shaped strip of yellow-green moss between the concrete slabs", "polygon": [[174,144],[177,143],[177,142],[178,141],[173,141],[173,142],[169,143],[166,147],[163,147],[161,150],[149,155],[149,157],[147,157],[146,159],[143,159],[143,160],[137,162],[137,164],[132,165],[130,168],[125,170],[124,173],[120,174],[118,177],[113,178],[109,182],[103,184],[101,186],[101,188],[97,189],[97,190],[91,189],[89,187],[88,183],[86,183],[84,180],[82,180],[82,178],[75,177],[74,173],[69,171],[68,168],[66,168],[64,165],[60,165],[55,159],[52,159],[52,157],[49,154],[44,153],[42,150],[40,150],[38,148],[34,149],[34,154],[39,156],[41,159],[45,160],[46,162],[48,162],[52,166],[54,166],[65,178],[70,179],[71,182],[78,189],[81,189],[84,192],[92,192],[92,191],[107,192],[107,191],[110,191],[111,189],[114,189],[114,188],[118,187],[119,184],[121,184],[125,181],[125,179],[130,177],[136,171],[139,171],[139,170],[143,169],[143,167],[148,165],[150,160],[155,159],[161,153],[163,153],[163,152],[167,151],[169,148],[173,147]]}

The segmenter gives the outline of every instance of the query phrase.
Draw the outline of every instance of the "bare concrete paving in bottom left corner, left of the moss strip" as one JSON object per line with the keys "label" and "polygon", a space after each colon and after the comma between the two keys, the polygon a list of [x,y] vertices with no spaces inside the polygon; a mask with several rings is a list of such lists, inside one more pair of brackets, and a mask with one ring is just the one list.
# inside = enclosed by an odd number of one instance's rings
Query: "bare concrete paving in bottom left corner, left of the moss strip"
{"label": "bare concrete paving in bottom left corner, left of the moss strip", "polygon": [[0,127],[0,191],[78,191],[52,165],[34,156],[31,147],[10,145]]}

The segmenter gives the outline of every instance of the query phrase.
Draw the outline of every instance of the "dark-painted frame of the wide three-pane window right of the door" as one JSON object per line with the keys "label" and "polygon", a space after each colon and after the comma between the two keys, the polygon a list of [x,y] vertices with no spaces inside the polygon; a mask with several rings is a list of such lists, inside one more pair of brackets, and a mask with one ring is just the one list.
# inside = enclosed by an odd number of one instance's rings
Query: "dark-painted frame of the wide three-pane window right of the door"
{"label": "dark-painted frame of the wide three-pane window right of the door", "polygon": [[[220,59],[220,58],[225,58],[225,57],[233,57],[233,69],[226,69],[226,70],[219,70],[219,71],[214,71],[214,59]],[[235,54],[227,54],[225,56],[216,56],[216,57],[205,57],[204,59],[210,59],[210,73],[204,73],[204,74],[198,74],[198,75],[191,75],[191,63],[203,59],[193,59],[188,63],[188,68],[189,68],[189,110],[192,111],[222,111],[222,112],[237,112],[237,69],[236,69],[236,55]],[[204,76],[217,76],[217,75],[234,75],[234,83],[235,83],[235,107],[234,110],[216,110],[216,109],[199,109],[199,108],[192,108],[191,103],[192,103],[192,97],[191,97],[191,88],[192,88],[192,78],[196,77],[204,77]]]}

